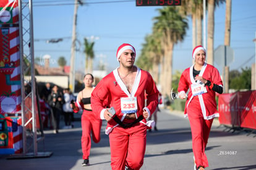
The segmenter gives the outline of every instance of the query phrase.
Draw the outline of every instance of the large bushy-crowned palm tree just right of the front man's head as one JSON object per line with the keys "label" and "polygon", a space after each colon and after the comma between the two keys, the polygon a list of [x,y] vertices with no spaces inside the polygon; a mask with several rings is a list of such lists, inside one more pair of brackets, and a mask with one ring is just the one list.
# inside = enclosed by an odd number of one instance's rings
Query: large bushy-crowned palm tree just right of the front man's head
{"label": "large bushy-crowned palm tree just right of the front man's head", "polygon": [[163,7],[158,9],[160,15],[155,17],[156,22],[153,25],[154,32],[161,35],[163,43],[163,63],[164,68],[161,74],[161,87],[164,96],[169,96],[172,88],[172,69],[173,69],[173,48],[176,43],[184,40],[186,29],[188,28],[187,18],[179,14],[177,7]]}

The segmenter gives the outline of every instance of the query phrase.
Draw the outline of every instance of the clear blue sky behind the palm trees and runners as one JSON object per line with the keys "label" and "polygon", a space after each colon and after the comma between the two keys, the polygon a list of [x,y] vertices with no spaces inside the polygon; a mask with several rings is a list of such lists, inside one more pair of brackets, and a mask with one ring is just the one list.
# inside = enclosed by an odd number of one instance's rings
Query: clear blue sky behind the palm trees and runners
{"label": "clear blue sky behind the palm trees and runners", "polygon": [[[108,71],[119,66],[116,50],[122,43],[130,43],[140,56],[145,36],[152,33],[153,18],[161,7],[137,7],[134,1],[126,0],[83,0],[77,12],[77,51],[75,69],[85,69],[83,39],[95,41],[95,69],[99,63],[106,64]],[[241,70],[255,63],[256,1],[233,0],[231,14],[231,48],[234,59],[229,70]],[[215,9],[214,48],[224,44],[226,4]],[[206,16],[207,17],[207,16]],[[50,67],[58,67],[58,58],[64,56],[70,65],[74,0],[34,0],[33,28],[35,57],[51,56]],[[174,46],[173,72],[182,71],[192,65],[192,22],[188,17],[189,29],[184,41]],[[59,43],[46,43],[52,38],[63,38]],[[214,66],[222,73],[223,67]],[[43,65],[43,62],[41,63]]]}

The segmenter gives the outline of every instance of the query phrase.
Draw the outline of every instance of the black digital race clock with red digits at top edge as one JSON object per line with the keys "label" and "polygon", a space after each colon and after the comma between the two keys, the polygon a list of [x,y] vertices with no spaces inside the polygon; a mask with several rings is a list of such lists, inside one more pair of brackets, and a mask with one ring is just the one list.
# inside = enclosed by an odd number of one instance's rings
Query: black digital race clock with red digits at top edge
{"label": "black digital race clock with red digits at top edge", "polygon": [[136,0],[136,6],[181,6],[181,0]]}

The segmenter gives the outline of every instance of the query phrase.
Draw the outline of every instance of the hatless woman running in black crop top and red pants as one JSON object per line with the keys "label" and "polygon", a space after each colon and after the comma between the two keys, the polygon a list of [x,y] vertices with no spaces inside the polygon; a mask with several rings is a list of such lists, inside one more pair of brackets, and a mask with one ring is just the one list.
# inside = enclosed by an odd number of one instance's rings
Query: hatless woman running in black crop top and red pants
{"label": "hatless woman running in black crop top and red pants", "polygon": [[85,88],[79,92],[77,95],[77,101],[75,103],[71,103],[74,113],[82,110],[83,114],[81,117],[81,125],[82,125],[82,152],[83,152],[83,163],[82,166],[88,166],[89,164],[89,156],[91,149],[91,134],[93,138],[93,142],[100,142],[100,129],[102,125],[102,120],[97,119],[95,114],[93,114],[91,107],[91,94],[94,89],[92,86],[93,83],[93,75],[85,74],[83,78],[83,83],[85,84]]}

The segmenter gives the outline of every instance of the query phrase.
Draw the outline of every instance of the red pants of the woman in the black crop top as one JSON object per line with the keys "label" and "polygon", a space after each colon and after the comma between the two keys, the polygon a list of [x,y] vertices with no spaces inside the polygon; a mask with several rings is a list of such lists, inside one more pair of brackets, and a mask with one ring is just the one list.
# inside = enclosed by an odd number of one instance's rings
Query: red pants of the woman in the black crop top
{"label": "red pants of the woman in the black crop top", "polygon": [[82,151],[83,151],[83,159],[88,159],[90,155],[91,149],[91,132],[93,141],[95,143],[100,142],[100,129],[102,125],[102,120],[96,119],[95,115],[92,111],[83,110],[83,114],[81,117],[82,124]]}

